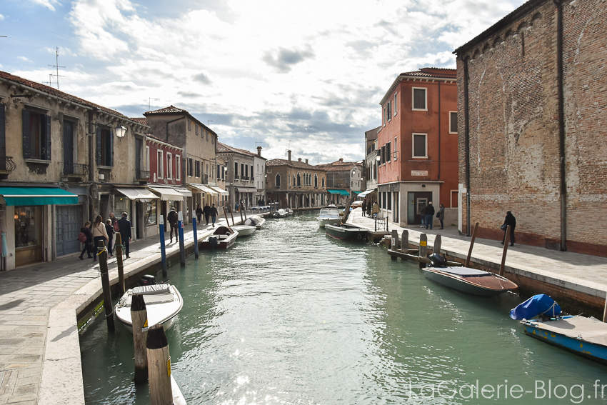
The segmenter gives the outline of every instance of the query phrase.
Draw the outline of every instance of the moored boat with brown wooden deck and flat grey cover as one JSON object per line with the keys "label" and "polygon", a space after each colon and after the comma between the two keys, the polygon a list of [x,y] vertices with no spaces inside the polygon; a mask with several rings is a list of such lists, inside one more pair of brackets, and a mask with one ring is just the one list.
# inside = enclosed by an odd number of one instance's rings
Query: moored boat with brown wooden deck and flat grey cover
{"label": "moored boat with brown wooden deck and flat grey cover", "polygon": [[437,284],[466,294],[496,296],[518,286],[506,277],[468,267],[425,267],[423,276]]}

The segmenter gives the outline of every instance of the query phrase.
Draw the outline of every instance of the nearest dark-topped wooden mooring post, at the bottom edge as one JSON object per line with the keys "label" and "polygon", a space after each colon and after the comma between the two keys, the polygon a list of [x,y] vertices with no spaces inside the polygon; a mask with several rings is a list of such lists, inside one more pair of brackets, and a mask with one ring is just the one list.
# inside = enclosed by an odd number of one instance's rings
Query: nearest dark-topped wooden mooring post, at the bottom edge
{"label": "nearest dark-topped wooden mooring post, at the bottom edge", "polygon": [[148,376],[150,381],[150,404],[173,404],[171,390],[171,356],[169,341],[166,340],[164,328],[154,325],[148,330],[146,339],[148,354]]}

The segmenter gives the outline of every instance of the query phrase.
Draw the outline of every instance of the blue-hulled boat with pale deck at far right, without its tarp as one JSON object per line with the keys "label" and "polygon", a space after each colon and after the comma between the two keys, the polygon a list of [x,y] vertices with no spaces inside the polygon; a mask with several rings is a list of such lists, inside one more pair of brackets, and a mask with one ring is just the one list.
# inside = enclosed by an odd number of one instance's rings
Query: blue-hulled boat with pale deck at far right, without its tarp
{"label": "blue-hulled boat with pale deck at far right, without its tarp", "polygon": [[586,316],[521,321],[525,334],[561,349],[607,364],[607,324]]}

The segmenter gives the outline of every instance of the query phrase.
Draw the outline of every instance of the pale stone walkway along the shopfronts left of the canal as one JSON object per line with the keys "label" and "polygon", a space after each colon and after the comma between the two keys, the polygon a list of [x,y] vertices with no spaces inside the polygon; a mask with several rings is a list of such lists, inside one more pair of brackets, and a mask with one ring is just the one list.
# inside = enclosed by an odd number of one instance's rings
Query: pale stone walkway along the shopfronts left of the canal
{"label": "pale stone walkway along the shopfronts left of the canal", "polygon": [[[199,227],[199,240],[209,233],[206,226]],[[165,238],[168,243],[168,232]],[[194,243],[191,225],[184,227],[184,242],[186,246]],[[125,276],[129,269],[137,271],[160,256],[158,235],[131,242],[130,247]],[[179,244],[166,245],[167,255],[175,251]],[[96,294],[101,281],[99,262],[81,261],[78,256],[0,273],[0,404],[84,404],[74,308],[92,299],[87,295]],[[113,270],[116,274],[116,258],[108,264],[110,274]],[[89,284],[88,290],[79,291]],[[71,299],[78,295],[79,301]],[[41,384],[43,366],[46,384]],[[56,381],[61,380],[58,374],[66,372],[71,373],[67,378],[71,381]]]}

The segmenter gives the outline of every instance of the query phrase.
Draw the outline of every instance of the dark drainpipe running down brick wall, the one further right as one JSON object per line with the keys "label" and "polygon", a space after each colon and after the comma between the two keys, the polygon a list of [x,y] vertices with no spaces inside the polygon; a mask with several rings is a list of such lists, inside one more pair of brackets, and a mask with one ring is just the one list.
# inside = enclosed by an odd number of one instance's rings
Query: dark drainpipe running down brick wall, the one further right
{"label": "dark drainpipe running down brick wall, the one further right", "polygon": [[558,158],[561,174],[561,251],[567,250],[567,179],[565,167],[565,106],[563,97],[563,1],[556,5],[556,85],[558,86]]}

